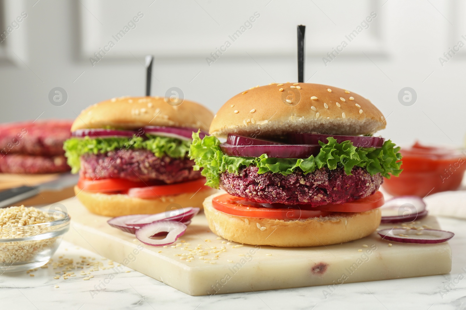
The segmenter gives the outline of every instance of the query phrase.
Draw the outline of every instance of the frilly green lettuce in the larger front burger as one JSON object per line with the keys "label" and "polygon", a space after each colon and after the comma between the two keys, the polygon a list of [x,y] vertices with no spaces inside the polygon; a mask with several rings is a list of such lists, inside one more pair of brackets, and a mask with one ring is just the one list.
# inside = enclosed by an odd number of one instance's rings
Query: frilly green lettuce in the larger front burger
{"label": "frilly green lettuce in the larger front burger", "polygon": [[194,159],[194,170],[200,170],[206,177],[206,185],[218,188],[220,173],[238,173],[242,166],[255,165],[258,173],[272,172],[288,175],[297,168],[304,174],[322,167],[334,170],[343,168],[351,175],[353,167],[363,167],[371,175],[381,173],[384,177],[398,176],[402,169],[400,148],[391,140],[385,141],[381,148],[356,147],[351,141],[337,143],[336,139],[328,138],[329,143],[319,142],[321,150],[317,156],[309,158],[269,158],[266,154],[260,157],[237,157],[223,154],[220,141],[214,136],[199,138],[199,132],[193,132],[192,144],[188,156]]}

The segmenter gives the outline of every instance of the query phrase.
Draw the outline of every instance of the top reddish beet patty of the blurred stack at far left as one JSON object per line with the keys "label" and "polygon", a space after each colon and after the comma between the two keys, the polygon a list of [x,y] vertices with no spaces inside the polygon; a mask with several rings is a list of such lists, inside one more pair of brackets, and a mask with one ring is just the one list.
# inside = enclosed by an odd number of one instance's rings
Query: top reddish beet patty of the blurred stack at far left
{"label": "top reddish beet patty of the blurred stack at far left", "polygon": [[71,136],[70,120],[37,120],[0,125],[0,152],[54,156],[63,155],[63,142]]}

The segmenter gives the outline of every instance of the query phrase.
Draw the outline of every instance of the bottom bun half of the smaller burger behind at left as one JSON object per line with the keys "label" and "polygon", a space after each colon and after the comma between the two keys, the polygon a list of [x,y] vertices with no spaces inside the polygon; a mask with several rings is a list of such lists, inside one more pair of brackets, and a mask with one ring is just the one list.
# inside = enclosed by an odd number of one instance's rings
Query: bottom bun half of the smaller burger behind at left
{"label": "bottom bun half of the smaller burger behind at left", "polygon": [[107,217],[130,214],[161,213],[172,208],[198,207],[202,209],[202,201],[215,189],[206,189],[197,193],[161,196],[155,199],[134,198],[124,194],[102,194],[82,191],[75,186],[75,195],[92,213]]}

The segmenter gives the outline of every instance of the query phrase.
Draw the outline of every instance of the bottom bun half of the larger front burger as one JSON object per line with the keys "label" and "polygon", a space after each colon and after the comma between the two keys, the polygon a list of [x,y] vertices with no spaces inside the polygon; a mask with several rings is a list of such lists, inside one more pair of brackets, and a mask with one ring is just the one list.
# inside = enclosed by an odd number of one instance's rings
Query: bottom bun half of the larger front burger
{"label": "bottom bun half of the larger front burger", "polygon": [[219,237],[241,244],[282,247],[338,244],[369,236],[376,231],[382,217],[382,211],[377,208],[298,220],[244,218],[213,208],[212,198],[223,193],[215,193],[204,200],[204,213],[209,228]]}

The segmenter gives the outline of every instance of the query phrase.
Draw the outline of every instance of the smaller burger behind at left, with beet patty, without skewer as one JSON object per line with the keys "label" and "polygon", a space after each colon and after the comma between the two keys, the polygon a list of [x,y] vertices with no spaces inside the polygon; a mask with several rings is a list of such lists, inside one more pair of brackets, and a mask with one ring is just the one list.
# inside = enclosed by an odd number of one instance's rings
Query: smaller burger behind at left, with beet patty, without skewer
{"label": "smaller burger behind at left, with beet patty, without skewer", "polygon": [[81,112],[65,141],[77,198],[105,216],[148,214],[201,206],[215,190],[187,157],[192,133],[206,132],[212,112],[184,100],[122,97]]}

